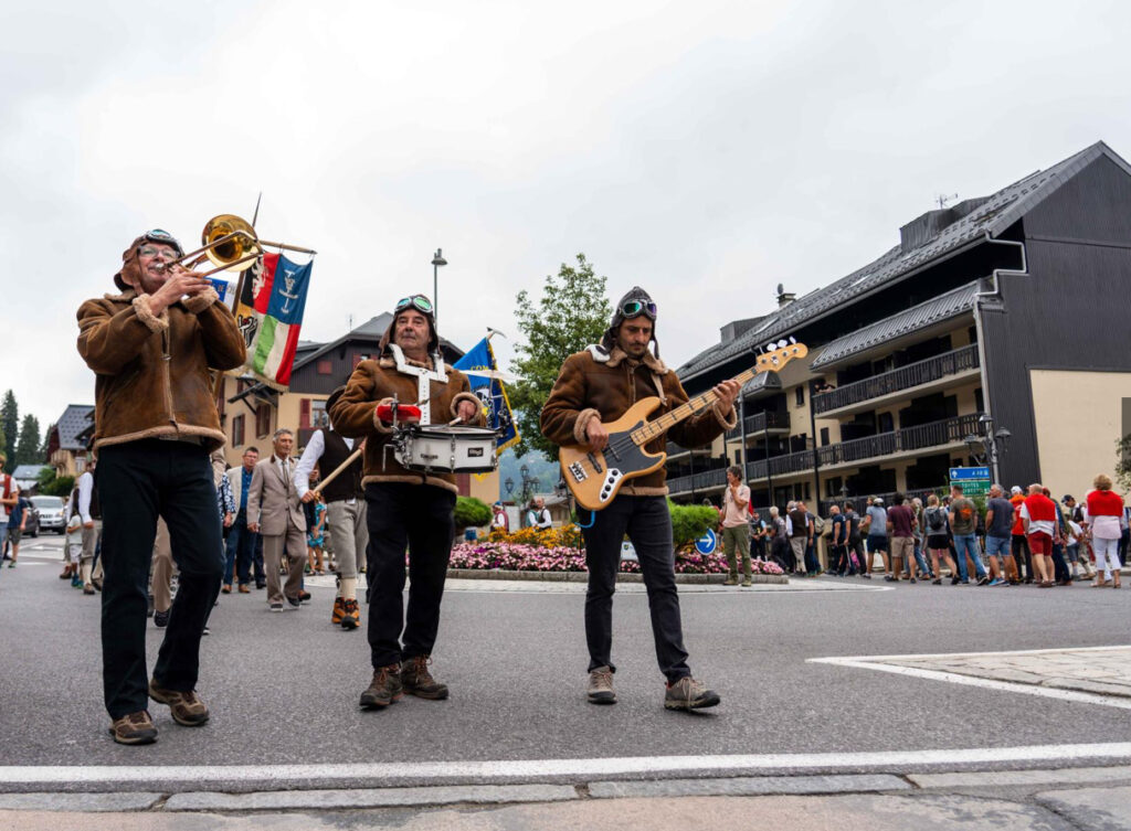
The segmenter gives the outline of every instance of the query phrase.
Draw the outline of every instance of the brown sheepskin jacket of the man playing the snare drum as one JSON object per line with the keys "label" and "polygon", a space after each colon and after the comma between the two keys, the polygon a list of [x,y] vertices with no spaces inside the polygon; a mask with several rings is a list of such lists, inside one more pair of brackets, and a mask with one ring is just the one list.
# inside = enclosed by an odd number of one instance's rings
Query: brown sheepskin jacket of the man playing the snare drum
{"label": "brown sheepskin jacket of the man playing the snare drum", "polygon": [[[432,369],[432,362],[426,364],[407,361],[409,365]],[[429,382],[432,423],[447,424],[456,417],[460,400],[472,401],[478,413],[477,426],[483,426],[483,405],[470,391],[467,376],[459,370],[444,364],[448,375],[447,383]],[[434,485],[452,493],[458,492],[454,474],[422,474],[400,466],[392,455],[385,452],[392,429],[377,417],[377,407],[392,401],[396,396],[400,404],[416,404],[416,375],[397,371],[397,364],[391,356],[385,355],[378,360],[362,361],[353,371],[346,383],[345,392],[330,408],[330,421],[334,430],[346,438],[365,439],[365,452],[362,456],[362,485],[379,482],[403,482],[411,485]]]}

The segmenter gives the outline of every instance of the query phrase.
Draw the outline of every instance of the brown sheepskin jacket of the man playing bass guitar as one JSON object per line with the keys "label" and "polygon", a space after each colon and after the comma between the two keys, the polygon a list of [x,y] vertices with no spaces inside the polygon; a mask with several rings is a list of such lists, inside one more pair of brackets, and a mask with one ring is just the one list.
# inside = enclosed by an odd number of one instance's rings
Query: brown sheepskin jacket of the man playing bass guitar
{"label": "brown sheepskin jacket of the man playing bass guitar", "polygon": [[[588,444],[585,430],[593,418],[603,423],[613,422],[641,398],[657,397],[662,404],[649,421],[688,400],[675,372],[650,352],[645,353],[642,361],[632,361],[619,347],[614,347],[607,356],[590,347],[570,355],[562,364],[561,374],[542,408],[542,434],[558,445]],[[734,409],[724,416],[716,404],[683,419],[645,449],[651,453],[662,451],[668,439],[684,448],[701,447],[735,424],[737,416]],[[646,476],[625,481],[621,493],[664,496],[667,494],[666,476],[664,468],[659,467]]]}

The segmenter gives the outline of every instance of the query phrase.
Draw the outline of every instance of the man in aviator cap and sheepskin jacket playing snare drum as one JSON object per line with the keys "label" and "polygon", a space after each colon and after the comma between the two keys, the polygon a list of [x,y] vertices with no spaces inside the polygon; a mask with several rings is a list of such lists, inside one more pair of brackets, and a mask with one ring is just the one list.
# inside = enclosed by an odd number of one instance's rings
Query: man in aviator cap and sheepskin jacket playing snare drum
{"label": "man in aviator cap and sheepskin jacket playing snare drum", "polygon": [[[382,417],[388,417],[387,405],[394,399],[417,406],[422,424],[444,425],[454,418],[481,426],[484,422],[467,378],[443,363],[432,303],[422,294],[397,303],[375,360],[357,364],[330,407],[330,419],[342,435],[366,439],[362,484],[373,679],[361,694],[364,709],[388,707],[405,692],[422,699],[448,698],[448,687],[432,677],[429,664],[455,535],[456,477],[407,469],[391,448],[386,452],[394,429]],[[404,421],[404,413],[398,421]],[[406,547],[412,577],[407,616],[402,601]]]}

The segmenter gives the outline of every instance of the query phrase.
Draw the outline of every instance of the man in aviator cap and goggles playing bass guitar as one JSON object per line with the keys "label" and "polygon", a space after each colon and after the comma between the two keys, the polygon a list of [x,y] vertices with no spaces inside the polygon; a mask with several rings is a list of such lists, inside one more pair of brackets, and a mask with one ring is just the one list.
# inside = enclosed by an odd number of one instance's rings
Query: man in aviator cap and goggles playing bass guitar
{"label": "man in aviator cap and goggles playing bass guitar", "polygon": [[[559,445],[587,445],[594,453],[605,449],[608,432],[603,423],[620,418],[642,398],[659,397],[656,415],[687,402],[675,372],[659,360],[656,341],[656,304],[640,287],[634,287],[616,304],[601,344],[570,355],[542,409],[542,433]],[[656,341],[656,350],[648,347]],[[671,439],[685,448],[710,443],[736,422],[734,400],[740,386],[724,381],[714,392],[715,404],[673,425]],[[646,445],[664,449],[665,434]],[[588,700],[595,704],[616,701],[613,691],[612,630],[613,591],[621,560],[621,542],[628,534],[636,547],[648,590],[651,631],[656,658],[667,678],[664,707],[693,710],[715,707],[719,696],[691,677],[688,652],[683,648],[680,598],[675,590],[675,553],[672,545],[672,519],[667,512],[665,471],[624,481],[620,492],[603,510],[581,514],[589,586],[585,599],[585,633],[589,647]]]}

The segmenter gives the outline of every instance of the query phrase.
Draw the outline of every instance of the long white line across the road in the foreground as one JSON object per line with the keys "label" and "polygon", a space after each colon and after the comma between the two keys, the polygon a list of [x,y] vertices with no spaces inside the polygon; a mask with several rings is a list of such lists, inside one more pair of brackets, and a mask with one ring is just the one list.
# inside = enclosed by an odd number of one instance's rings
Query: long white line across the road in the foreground
{"label": "long white line across the road in the foreground", "polygon": [[873,753],[782,753],[762,755],[627,756],[613,759],[538,759],[463,762],[379,762],[349,764],[254,765],[11,765],[0,767],[0,782],[21,786],[124,785],[193,782],[232,786],[278,780],[348,784],[381,780],[388,784],[429,780],[533,780],[579,777],[592,781],[608,776],[701,772],[736,776],[742,771],[828,772],[863,770],[904,771],[927,767],[1056,762],[1057,767],[1083,760],[1131,760],[1131,742],[1105,744],[973,747],[967,750],[892,751]]}

